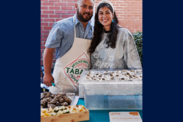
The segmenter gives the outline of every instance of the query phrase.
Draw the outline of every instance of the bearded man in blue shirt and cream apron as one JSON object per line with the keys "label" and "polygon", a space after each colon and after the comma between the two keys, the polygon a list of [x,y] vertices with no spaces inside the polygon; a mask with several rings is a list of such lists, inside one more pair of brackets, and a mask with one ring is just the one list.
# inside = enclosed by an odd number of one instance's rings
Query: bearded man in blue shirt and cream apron
{"label": "bearded man in blue shirt and cream apron", "polygon": [[[78,80],[84,69],[89,68],[90,59],[87,50],[92,39],[94,0],[78,0],[77,13],[70,18],[54,23],[45,44],[43,65],[45,75],[43,83],[52,93],[75,92],[78,94]],[[56,51],[56,63],[53,76],[51,66]]]}

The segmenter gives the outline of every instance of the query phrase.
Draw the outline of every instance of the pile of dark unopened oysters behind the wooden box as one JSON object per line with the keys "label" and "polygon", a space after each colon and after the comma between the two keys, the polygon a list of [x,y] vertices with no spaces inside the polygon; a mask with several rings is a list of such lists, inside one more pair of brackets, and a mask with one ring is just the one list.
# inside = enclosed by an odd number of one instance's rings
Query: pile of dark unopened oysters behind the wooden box
{"label": "pile of dark unopened oysters behind the wooden box", "polygon": [[68,106],[72,100],[66,96],[66,93],[53,94],[51,92],[41,93],[41,107],[55,108],[56,106]]}

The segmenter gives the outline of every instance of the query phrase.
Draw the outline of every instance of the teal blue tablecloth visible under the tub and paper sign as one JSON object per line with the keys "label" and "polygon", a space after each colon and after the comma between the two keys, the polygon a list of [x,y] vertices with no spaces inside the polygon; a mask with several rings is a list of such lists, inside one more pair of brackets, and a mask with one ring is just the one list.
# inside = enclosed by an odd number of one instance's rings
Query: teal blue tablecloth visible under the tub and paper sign
{"label": "teal blue tablecloth visible under the tub and paper sign", "polygon": [[[84,99],[80,98],[77,105],[85,106]],[[82,122],[110,122],[109,112],[125,112],[127,110],[89,110],[89,111],[90,111],[90,120]],[[138,112],[142,118],[142,110],[139,110]]]}

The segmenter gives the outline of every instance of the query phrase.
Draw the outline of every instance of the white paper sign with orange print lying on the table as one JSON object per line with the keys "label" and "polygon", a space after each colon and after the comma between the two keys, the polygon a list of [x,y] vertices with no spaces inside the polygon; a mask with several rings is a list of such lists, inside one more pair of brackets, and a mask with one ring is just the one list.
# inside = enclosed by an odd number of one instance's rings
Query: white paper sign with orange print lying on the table
{"label": "white paper sign with orange print lying on the table", "polygon": [[139,112],[109,112],[110,122],[142,122]]}

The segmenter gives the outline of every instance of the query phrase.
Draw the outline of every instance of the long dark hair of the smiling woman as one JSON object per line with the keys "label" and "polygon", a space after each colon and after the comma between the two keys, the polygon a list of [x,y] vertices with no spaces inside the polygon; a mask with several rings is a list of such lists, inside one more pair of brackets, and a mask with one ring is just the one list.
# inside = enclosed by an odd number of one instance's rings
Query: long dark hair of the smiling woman
{"label": "long dark hair of the smiling woman", "polygon": [[[95,48],[97,47],[97,45],[100,43],[100,41],[102,40],[102,33],[104,31],[104,27],[102,24],[99,23],[98,21],[98,12],[100,8],[103,7],[108,7],[109,10],[113,13],[113,9],[111,7],[110,4],[108,3],[101,3],[98,8],[97,8],[97,12],[95,14],[95,26],[94,26],[94,37],[92,39],[90,48],[88,50],[88,52],[91,54],[95,51]],[[117,40],[117,35],[118,35],[118,18],[116,17],[116,13],[114,12],[114,18],[113,18],[113,22],[111,23],[111,29],[110,29],[110,33],[108,34],[108,41],[107,41],[107,45],[108,47],[110,46],[111,48],[115,48],[116,47],[116,40]],[[107,48],[108,48],[107,47]]]}

